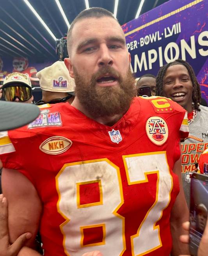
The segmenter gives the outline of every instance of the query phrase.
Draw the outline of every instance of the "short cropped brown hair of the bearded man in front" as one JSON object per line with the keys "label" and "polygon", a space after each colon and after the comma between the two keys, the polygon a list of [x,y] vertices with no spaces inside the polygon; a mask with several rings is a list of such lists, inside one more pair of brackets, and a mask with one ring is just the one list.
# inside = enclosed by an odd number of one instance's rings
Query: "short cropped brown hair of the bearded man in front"
{"label": "short cropped brown hair of the bearded man in front", "polygon": [[[91,7],[89,9],[85,9],[84,11],[81,11],[81,13],[79,13],[76,16],[76,18],[71,23],[71,26],[69,27],[69,30],[67,33],[67,50],[68,50],[69,56],[71,56],[70,51],[71,51],[71,44],[72,44],[72,30],[73,30],[75,23],[78,22],[79,20],[82,20],[85,18],[101,18],[104,16],[113,18],[114,20],[116,20],[118,22],[118,20],[114,17],[114,15],[110,11],[100,8],[100,7]],[[119,24],[119,22],[118,22],[118,24]]]}

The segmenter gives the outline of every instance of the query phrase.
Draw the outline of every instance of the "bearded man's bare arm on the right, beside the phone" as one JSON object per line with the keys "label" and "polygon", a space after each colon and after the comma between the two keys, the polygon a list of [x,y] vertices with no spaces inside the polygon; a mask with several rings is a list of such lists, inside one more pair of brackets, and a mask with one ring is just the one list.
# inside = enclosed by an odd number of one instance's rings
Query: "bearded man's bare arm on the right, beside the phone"
{"label": "bearded man's bare arm on the right, beside the phone", "polygon": [[176,198],[171,211],[171,234],[172,234],[172,256],[178,256],[179,254],[189,254],[188,246],[182,244],[180,241],[180,235],[187,234],[182,228],[182,223],[188,221],[188,207],[185,200],[183,191],[183,184],[181,180],[181,158],[175,163],[173,172],[178,175],[180,182],[180,192]]}

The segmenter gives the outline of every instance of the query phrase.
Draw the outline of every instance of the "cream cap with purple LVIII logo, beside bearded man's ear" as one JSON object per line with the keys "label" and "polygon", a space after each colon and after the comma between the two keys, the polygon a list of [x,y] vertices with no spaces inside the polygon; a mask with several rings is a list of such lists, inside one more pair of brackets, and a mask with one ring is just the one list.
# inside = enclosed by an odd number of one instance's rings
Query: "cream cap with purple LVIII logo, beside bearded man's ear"
{"label": "cream cap with purple LVIII logo, beside bearded man's ear", "polygon": [[40,87],[44,91],[71,93],[75,91],[74,78],[69,76],[69,71],[63,61],[57,61],[49,67],[37,72]]}

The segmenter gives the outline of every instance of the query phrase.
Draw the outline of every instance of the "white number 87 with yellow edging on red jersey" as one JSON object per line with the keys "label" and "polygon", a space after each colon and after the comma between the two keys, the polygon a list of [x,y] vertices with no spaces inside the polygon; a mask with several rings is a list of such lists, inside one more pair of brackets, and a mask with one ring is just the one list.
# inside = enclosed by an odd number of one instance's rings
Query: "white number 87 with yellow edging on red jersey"
{"label": "white number 87 with yellow edging on red jersey", "polygon": [[[166,152],[123,156],[128,184],[148,182],[147,175],[157,174],[156,200],[150,207],[137,233],[131,236],[132,256],[142,256],[162,246],[160,227],[156,222],[169,205],[172,176]],[[81,205],[78,185],[99,182],[100,202]],[[99,250],[103,255],[120,256],[126,249],[124,217],[117,213],[123,205],[123,189],[119,167],[107,158],[68,163],[56,176],[59,201],[57,209],[66,219],[60,225],[66,255],[80,256]],[[101,227],[103,240],[85,245],[84,230]],[[150,241],[150,242],[149,242]]]}

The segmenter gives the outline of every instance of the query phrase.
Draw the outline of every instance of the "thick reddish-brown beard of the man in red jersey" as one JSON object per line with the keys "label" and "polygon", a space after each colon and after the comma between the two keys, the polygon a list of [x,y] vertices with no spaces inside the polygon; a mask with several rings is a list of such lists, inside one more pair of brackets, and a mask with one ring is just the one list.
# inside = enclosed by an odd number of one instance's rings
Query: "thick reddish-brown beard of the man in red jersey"
{"label": "thick reddish-brown beard of the man in red jersey", "polygon": [[[78,74],[75,67],[75,94],[81,105],[93,117],[113,116],[128,111],[133,97],[136,96],[135,78],[130,67],[124,78],[112,67],[103,67],[94,74],[90,83],[85,77]],[[97,79],[102,75],[110,74],[117,78],[118,85],[99,86]]]}

